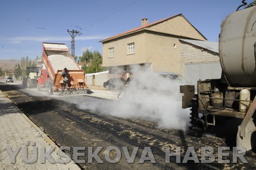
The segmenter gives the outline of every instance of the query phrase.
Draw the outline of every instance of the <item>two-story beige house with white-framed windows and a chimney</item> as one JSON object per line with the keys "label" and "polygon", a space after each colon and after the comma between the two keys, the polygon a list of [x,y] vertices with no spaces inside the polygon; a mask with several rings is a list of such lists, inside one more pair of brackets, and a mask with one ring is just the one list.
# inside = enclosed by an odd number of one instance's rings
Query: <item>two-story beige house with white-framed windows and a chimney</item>
{"label": "two-story beige house with white-framed windows and a chimney", "polygon": [[103,66],[110,73],[146,65],[153,71],[184,73],[179,39],[207,40],[182,14],[148,23],[101,40]]}

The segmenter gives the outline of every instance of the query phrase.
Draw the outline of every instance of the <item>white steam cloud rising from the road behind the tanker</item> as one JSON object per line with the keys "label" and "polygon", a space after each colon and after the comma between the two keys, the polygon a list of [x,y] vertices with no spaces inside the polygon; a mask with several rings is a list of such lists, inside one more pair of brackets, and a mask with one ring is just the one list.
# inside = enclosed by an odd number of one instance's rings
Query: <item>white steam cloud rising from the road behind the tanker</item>
{"label": "white steam cloud rising from the road behind the tanker", "polygon": [[149,69],[131,69],[133,79],[121,94],[120,102],[79,103],[81,109],[99,111],[121,118],[139,118],[158,124],[159,128],[186,130],[189,110],[182,109],[179,86],[186,84],[177,75],[163,75]]}

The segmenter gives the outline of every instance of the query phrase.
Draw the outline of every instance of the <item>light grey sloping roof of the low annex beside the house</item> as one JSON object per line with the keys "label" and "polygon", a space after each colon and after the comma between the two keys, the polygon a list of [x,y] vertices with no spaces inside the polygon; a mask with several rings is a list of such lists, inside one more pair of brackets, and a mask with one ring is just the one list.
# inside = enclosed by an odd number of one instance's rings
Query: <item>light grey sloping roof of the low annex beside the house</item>
{"label": "light grey sloping roof of the low annex beside the house", "polygon": [[189,40],[189,39],[179,39],[183,42],[191,43],[192,45],[199,46],[204,49],[218,53],[218,42],[209,42],[202,40]]}

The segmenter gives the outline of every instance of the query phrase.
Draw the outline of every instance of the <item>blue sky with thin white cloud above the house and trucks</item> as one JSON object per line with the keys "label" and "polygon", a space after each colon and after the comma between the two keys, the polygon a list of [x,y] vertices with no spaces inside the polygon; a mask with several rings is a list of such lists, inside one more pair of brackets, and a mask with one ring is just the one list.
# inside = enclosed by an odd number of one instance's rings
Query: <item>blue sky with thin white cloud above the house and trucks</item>
{"label": "blue sky with thin white cloud above the house and trucks", "polygon": [[221,21],[241,4],[242,0],[1,0],[0,59],[40,57],[42,42],[70,48],[67,29],[83,33],[75,38],[77,56],[87,48],[102,52],[100,40],[141,26],[142,18],[152,23],[180,13],[216,42]]}

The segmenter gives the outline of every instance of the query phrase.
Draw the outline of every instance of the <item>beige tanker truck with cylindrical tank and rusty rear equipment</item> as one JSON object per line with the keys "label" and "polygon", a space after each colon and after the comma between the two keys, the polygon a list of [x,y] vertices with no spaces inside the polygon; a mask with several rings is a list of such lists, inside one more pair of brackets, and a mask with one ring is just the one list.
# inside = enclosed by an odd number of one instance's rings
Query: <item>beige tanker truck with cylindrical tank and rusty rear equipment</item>
{"label": "beige tanker truck with cylindrical tank and rusty rear equipment", "polygon": [[256,3],[242,3],[221,25],[221,78],[198,80],[197,92],[195,86],[180,86],[180,93],[182,108],[191,108],[189,131],[202,136],[236,119],[234,145],[251,150],[256,145]]}

